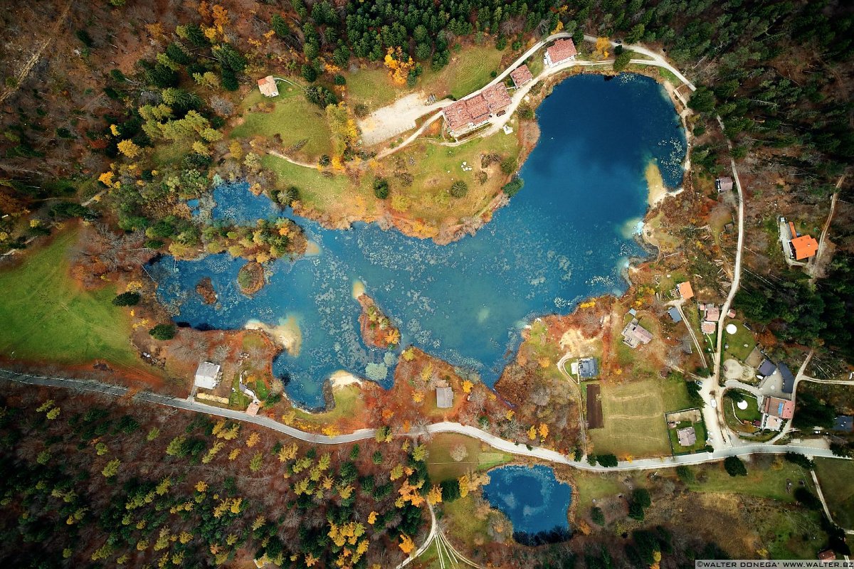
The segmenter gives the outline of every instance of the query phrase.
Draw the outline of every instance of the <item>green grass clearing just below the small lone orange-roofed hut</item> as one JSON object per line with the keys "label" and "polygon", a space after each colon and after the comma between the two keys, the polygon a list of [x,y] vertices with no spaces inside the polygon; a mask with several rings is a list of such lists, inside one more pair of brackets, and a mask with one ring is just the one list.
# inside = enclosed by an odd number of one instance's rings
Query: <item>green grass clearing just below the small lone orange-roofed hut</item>
{"label": "green grass clearing just below the small lone orange-roofed hut", "polygon": [[[261,95],[257,89],[250,91],[241,103],[243,123],[234,127],[229,136],[272,138],[278,135],[282,138],[281,152],[306,141],[294,155],[308,161],[317,160],[321,154],[330,154],[332,144],[324,111],[308,102],[300,88],[281,82],[278,86],[279,95],[272,98]],[[270,112],[249,110],[258,104],[269,107]]]}

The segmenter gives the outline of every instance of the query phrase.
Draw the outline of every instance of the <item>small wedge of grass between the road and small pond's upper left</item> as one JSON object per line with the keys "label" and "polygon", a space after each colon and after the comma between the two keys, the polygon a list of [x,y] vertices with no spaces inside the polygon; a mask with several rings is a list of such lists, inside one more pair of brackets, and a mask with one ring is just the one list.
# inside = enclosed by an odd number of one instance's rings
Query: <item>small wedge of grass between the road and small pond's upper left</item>
{"label": "small wedge of grass between the road and small pond's upper left", "polygon": [[[451,457],[451,450],[458,444],[468,451],[468,456],[460,462]],[[433,482],[459,478],[472,470],[488,470],[512,460],[509,454],[494,450],[475,438],[455,433],[437,434],[428,444],[427,451],[427,472]]]}

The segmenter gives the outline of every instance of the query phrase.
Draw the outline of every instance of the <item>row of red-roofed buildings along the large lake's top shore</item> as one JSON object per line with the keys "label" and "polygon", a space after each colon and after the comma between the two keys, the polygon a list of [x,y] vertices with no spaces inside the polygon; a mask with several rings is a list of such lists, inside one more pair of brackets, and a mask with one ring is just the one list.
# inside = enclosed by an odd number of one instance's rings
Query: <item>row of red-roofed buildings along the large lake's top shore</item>
{"label": "row of red-roofed buildings along the large lake's top shore", "polygon": [[[576,44],[571,39],[560,39],[546,49],[544,62],[546,67],[555,67],[565,61],[574,60],[577,54]],[[534,80],[527,65],[514,69],[510,78],[517,89]],[[445,117],[447,131],[457,138],[486,125],[493,117],[502,116],[511,103],[506,85],[498,83],[453,102],[442,109],[442,115]]]}

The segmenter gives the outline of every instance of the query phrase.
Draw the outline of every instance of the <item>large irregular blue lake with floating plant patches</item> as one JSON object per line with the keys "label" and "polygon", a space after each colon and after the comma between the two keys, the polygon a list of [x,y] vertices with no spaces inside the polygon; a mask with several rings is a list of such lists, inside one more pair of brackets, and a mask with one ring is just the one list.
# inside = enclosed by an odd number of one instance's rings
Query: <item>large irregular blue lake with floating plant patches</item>
{"label": "large irregular blue lake with floating plant patches", "polygon": [[[196,327],[243,328],[249,320],[299,323],[301,351],[283,353],[273,370],[286,392],[308,407],[324,404],[324,381],[338,369],[365,374],[396,355],[360,339],[354,282],[365,284],[412,343],[456,365],[498,379],[520,331],[535,318],[566,313],[582,299],[622,293],[621,271],[642,249],[631,233],[646,212],[649,160],[664,183],[681,185],[685,137],[664,90],[623,74],[566,79],[538,109],[541,139],[520,172],[525,187],[473,237],[446,246],[383,231],[375,224],[323,229],[296,218],[319,254],[266,265],[269,282],[249,298],[237,288],[246,263],[223,253],[198,261],[163,258],[152,267],[175,320]],[[213,218],[253,224],[281,212],[245,183],[214,189]],[[196,282],[210,276],[217,305],[204,305]]]}

